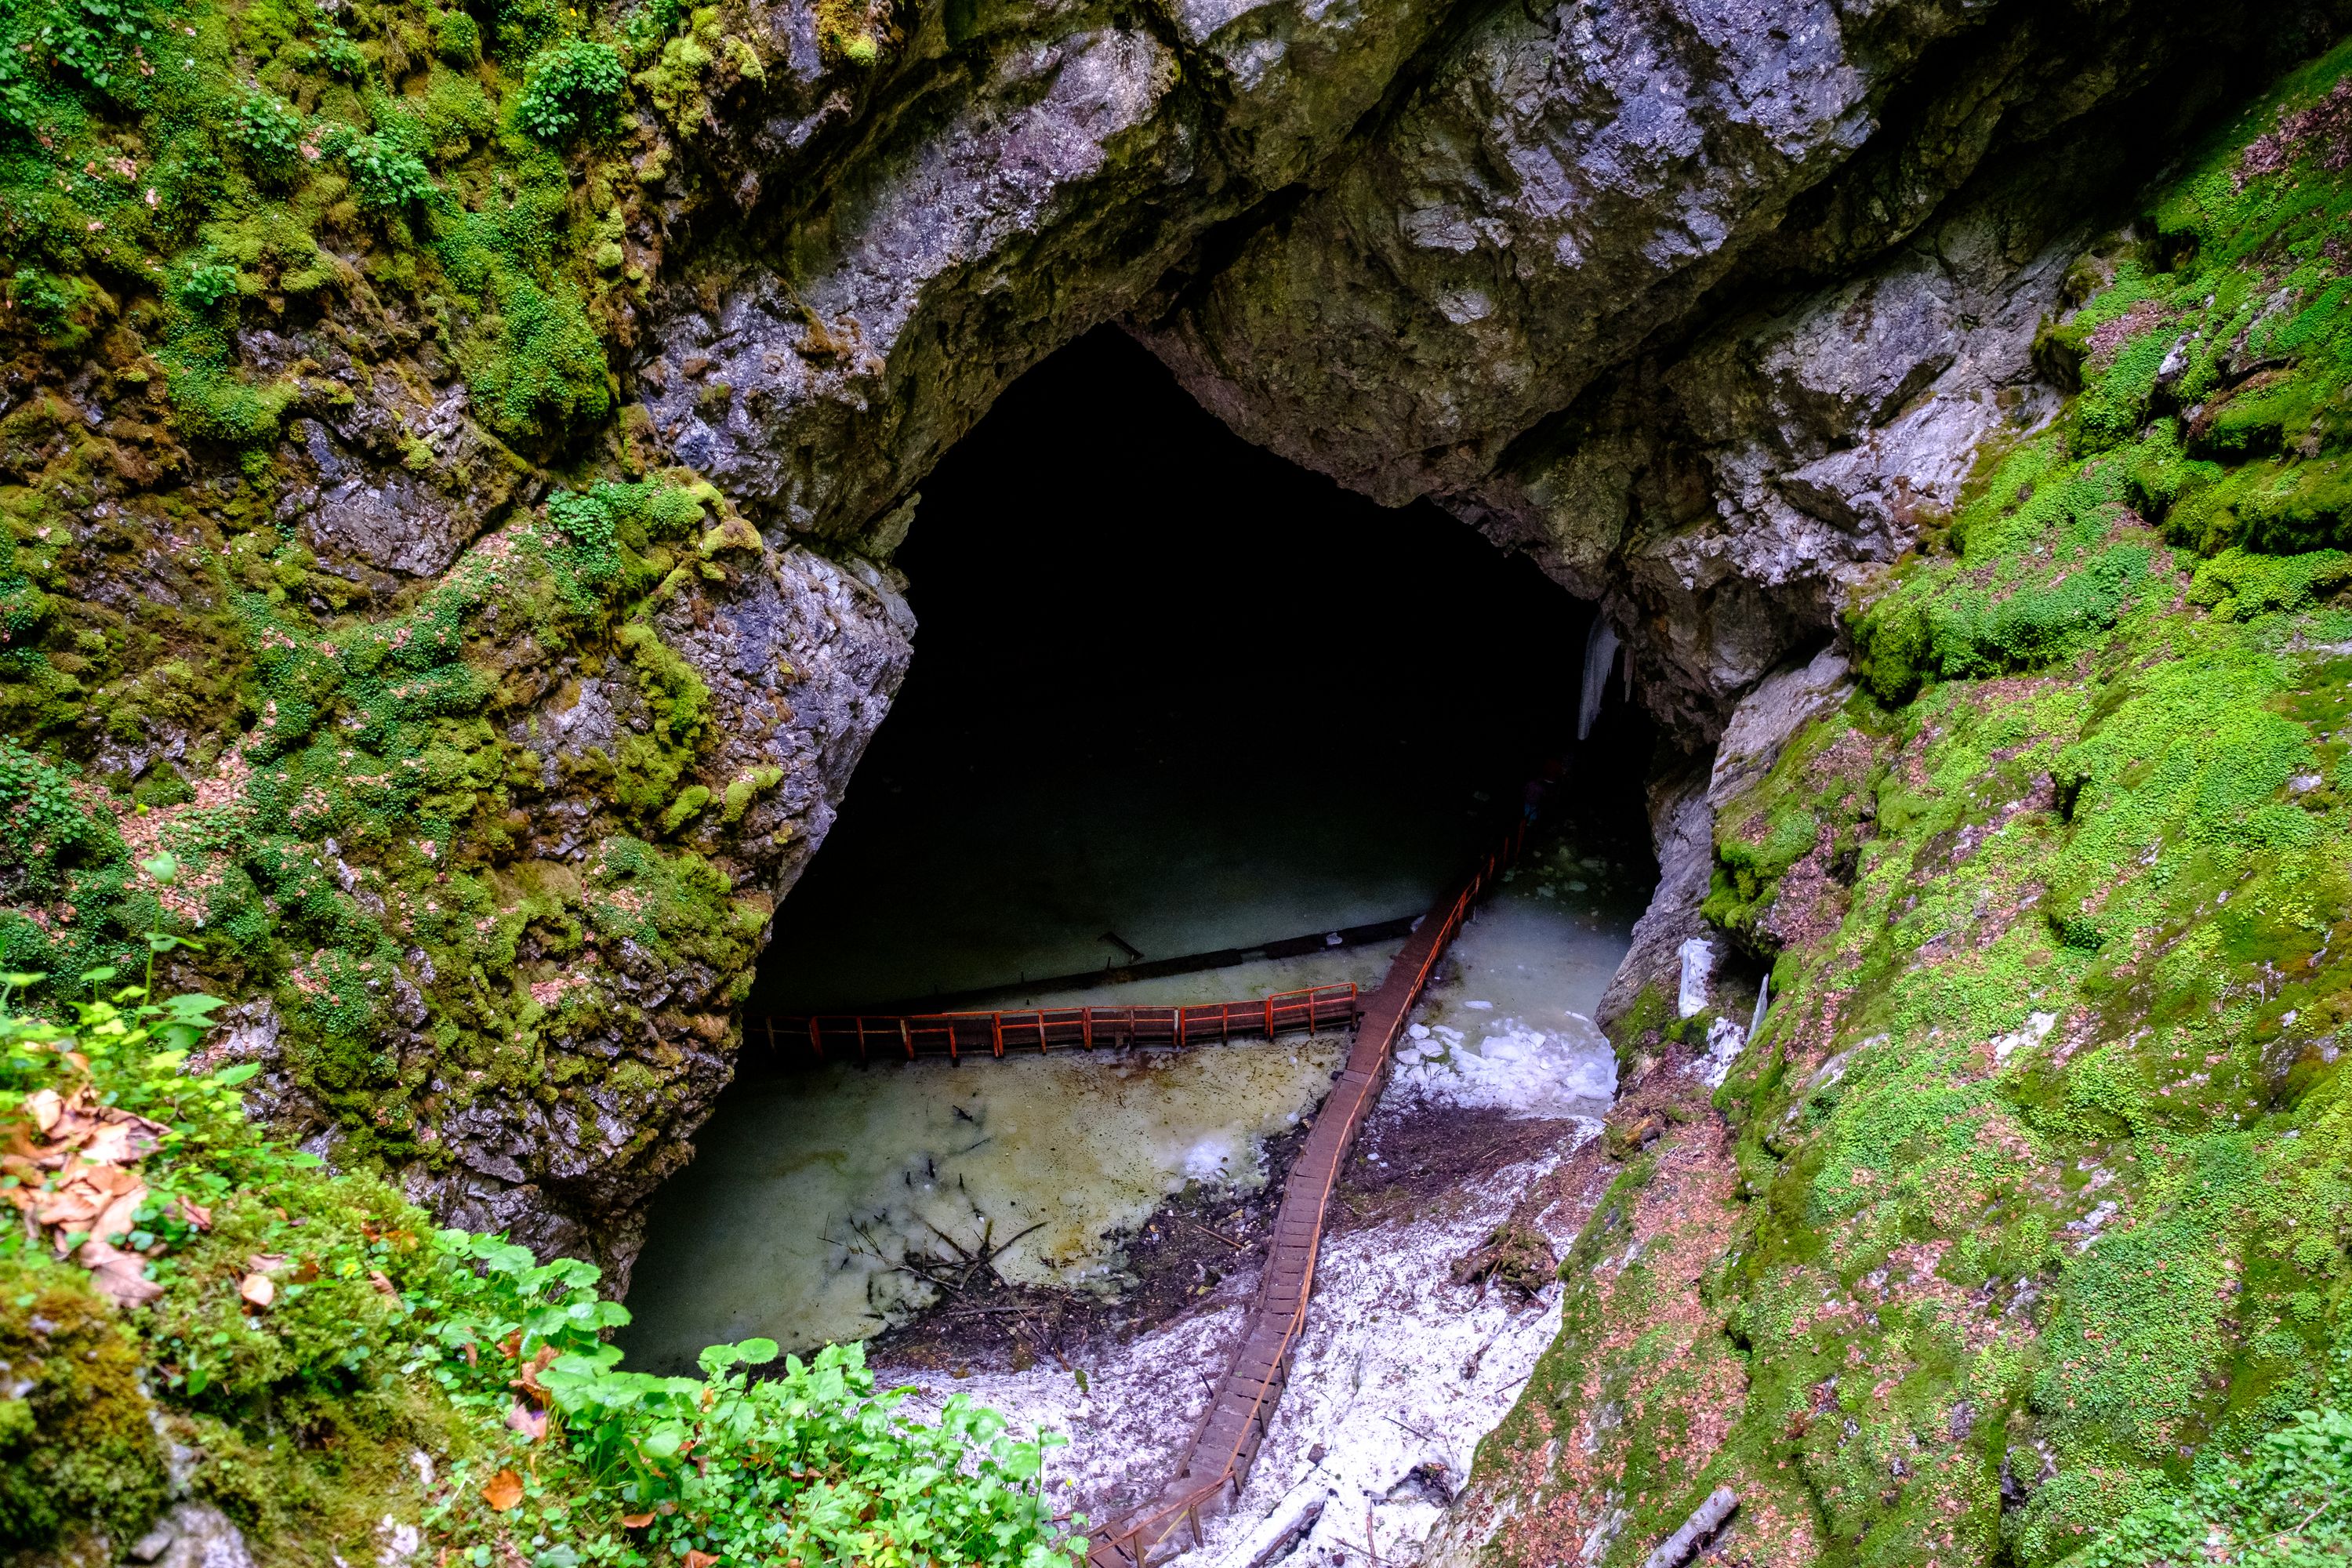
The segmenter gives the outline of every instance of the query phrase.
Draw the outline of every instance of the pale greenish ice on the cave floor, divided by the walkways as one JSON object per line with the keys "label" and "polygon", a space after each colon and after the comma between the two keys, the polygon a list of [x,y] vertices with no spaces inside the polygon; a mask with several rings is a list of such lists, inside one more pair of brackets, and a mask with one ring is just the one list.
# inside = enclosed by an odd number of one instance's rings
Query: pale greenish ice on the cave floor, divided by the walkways
{"label": "pale greenish ice on the cave floor, divided by the walkways", "polygon": [[[1583,1013],[1625,950],[1630,875],[1581,860],[1548,846],[1456,938],[1399,1053],[1399,1093],[1524,1117],[1606,1110],[1613,1060]],[[1371,985],[1392,952],[1014,992],[1007,1006]],[[990,1248],[1007,1281],[1115,1293],[1122,1237],[1188,1185],[1263,1185],[1265,1138],[1312,1112],[1343,1056],[1334,1034],[750,1074],[661,1194],[630,1359],[691,1366],[703,1345],[748,1335],[868,1338],[953,1293]]]}

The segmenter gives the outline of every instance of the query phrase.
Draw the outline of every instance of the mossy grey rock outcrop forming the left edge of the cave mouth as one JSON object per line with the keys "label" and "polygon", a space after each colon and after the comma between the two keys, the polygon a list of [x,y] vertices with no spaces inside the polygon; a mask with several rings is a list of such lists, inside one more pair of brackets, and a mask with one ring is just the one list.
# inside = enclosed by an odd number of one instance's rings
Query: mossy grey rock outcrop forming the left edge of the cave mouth
{"label": "mossy grey rock outcrop forming the left edge of the cave mouth", "polygon": [[[619,639],[623,654],[661,649],[661,679],[609,646],[548,656],[520,628],[470,644],[506,670],[499,750],[520,773],[494,867],[402,886],[358,849],[346,860],[332,835],[320,844],[350,912],[412,943],[372,985],[388,1081],[369,1098],[414,1150],[395,1161],[400,1185],[449,1222],[597,1260],[614,1288],[628,1286],[644,1199],[691,1159],[687,1138],[734,1072],[734,1006],[767,914],[830,830],[913,651],[894,574],[779,550],[741,520],[713,534],[724,548],[644,607],[649,635]],[[496,531],[461,571],[510,569],[524,548]],[[687,682],[708,741],[670,797],[694,809],[666,813],[647,842],[614,799],[614,759],[626,773]],[[221,820],[259,825],[233,806]],[[454,1001],[461,964],[506,994]],[[325,983],[299,976],[296,990]],[[228,1023],[207,1060],[263,1065],[256,1105],[339,1154],[346,1135],[280,1009],[252,1001]]]}

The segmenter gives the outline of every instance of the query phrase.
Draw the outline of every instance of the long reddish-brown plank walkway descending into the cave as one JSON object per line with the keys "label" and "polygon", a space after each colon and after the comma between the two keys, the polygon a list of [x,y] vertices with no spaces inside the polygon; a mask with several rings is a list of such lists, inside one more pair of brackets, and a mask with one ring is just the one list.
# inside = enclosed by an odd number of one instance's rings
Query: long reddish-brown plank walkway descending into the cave
{"label": "long reddish-brown plank walkway descending into the cave", "polygon": [[1397,1034],[1404,1032],[1404,1020],[1430,983],[1446,943],[1494,879],[1519,858],[1524,844],[1526,823],[1519,823],[1461,889],[1421,919],[1404,952],[1364,999],[1348,1065],[1317,1112],[1315,1128],[1282,1187],[1258,1298],[1244,1319],[1232,1363],[1209,1396],[1192,1448],[1155,1502],[1112,1521],[1094,1537],[1089,1568],[1152,1568],[1188,1552],[1202,1542],[1202,1521],[1242,1495],[1258,1446],[1265,1443],[1275,1401],[1282,1396],[1298,1331],[1305,1328],[1331,1190],[1388,1081]]}

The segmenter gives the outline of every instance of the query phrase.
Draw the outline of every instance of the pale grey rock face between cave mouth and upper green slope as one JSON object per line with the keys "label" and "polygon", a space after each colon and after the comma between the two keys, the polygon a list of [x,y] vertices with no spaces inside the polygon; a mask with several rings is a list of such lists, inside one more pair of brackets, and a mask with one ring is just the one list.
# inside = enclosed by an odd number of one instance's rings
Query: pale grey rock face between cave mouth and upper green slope
{"label": "pale grey rock face between cave mouth and upper green slope", "polygon": [[[1534,529],[1541,548],[1566,522],[1571,548],[1613,543],[1604,592],[1644,693],[1710,738],[1729,703],[1830,632],[1851,583],[1952,512],[1987,442],[2051,416],[2032,341],[2070,240],[2020,259],[1971,209],[1863,277],[1717,327],[1632,383],[1649,400],[1618,393],[1613,461],[1649,477],[1653,505],[1639,487],[1573,517],[1519,503],[1505,531]],[[1679,494],[1653,480],[1675,473]]]}

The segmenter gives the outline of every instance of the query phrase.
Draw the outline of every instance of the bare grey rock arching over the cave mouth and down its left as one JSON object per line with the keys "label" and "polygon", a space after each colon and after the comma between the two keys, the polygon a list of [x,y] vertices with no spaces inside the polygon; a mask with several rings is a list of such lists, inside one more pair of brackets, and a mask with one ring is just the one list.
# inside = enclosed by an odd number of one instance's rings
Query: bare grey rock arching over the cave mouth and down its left
{"label": "bare grey rock arching over the cave mouth and down its left", "polygon": [[[308,247],[268,261],[270,324],[228,346],[285,393],[275,447],[176,428],[134,334],[28,350],[7,381],[7,475],[75,517],[28,524],[71,614],[42,609],[64,630],[12,733],[94,769],[92,811],[136,853],[165,825],[132,790],[249,806],[285,839],[285,886],[252,903],[318,912],[181,971],[270,992],[221,1051],[266,1060],[318,1147],[614,1267],[903,675],[887,559],[920,482],[1025,367],[1131,322],[1249,440],[1432,496],[1599,597],[1637,696],[1703,748],[1938,527],[1966,451],[2049,416],[2030,348],[2091,209],[2345,21],[2338,0],[957,0],[875,14],[851,52],[830,14],[729,12],[691,92],[633,120],[626,200],[581,174],[612,209],[595,268],[642,284],[600,294],[609,376],[487,374],[466,322],[379,308]],[[564,440],[541,440],[548,400]],[[365,738],[296,665],[390,637],[515,529],[583,548],[560,494],[666,465],[743,534],[673,541],[562,646],[468,623],[485,686],[402,719],[414,757],[336,764],[303,731],[334,712]],[[666,724],[687,762],[637,783],[593,762]],[[343,795],[428,752],[433,788],[358,849],[287,804],[292,773],[252,797],[296,741]],[[630,882],[623,837],[659,877]],[[466,898],[442,900],[452,875]],[[26,919],[71,926],[61,889]],[[367,1032],[318,1023],[362,992]]]}

